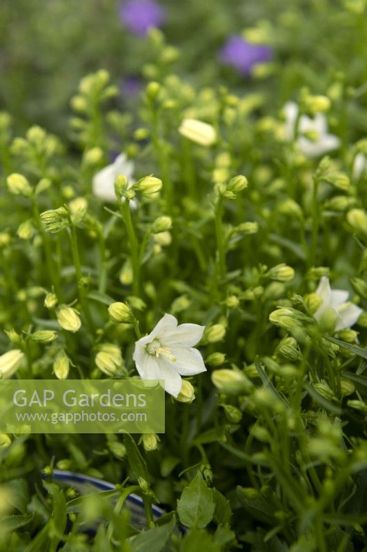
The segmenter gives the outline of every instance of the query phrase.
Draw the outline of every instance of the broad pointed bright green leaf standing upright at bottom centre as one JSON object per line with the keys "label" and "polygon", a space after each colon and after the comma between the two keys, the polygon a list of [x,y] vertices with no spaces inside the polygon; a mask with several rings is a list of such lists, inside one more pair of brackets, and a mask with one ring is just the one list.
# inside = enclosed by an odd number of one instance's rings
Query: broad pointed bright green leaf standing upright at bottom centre
{"label": "broad pointed bright green leaf standing upright at bottom centre", "polygon": [[190,528],[203,529],[211,522],[214,511],[212,491],[208,489],[201,472],[198,471],[177,502],[179,519]]}

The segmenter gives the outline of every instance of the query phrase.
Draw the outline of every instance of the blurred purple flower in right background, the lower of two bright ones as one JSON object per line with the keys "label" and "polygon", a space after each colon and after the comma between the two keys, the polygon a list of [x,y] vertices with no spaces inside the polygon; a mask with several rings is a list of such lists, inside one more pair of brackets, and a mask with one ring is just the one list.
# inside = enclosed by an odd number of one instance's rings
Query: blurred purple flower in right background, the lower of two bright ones
{"label": "blurred purple flower in right background, the lower of two bright ones", "polygon": [[219,57],[223,63],[237,70],[241,75],[250,75],[257,63],[272,59],[272,50],[268,46],[251,44],[234,34],[221,48]]}

